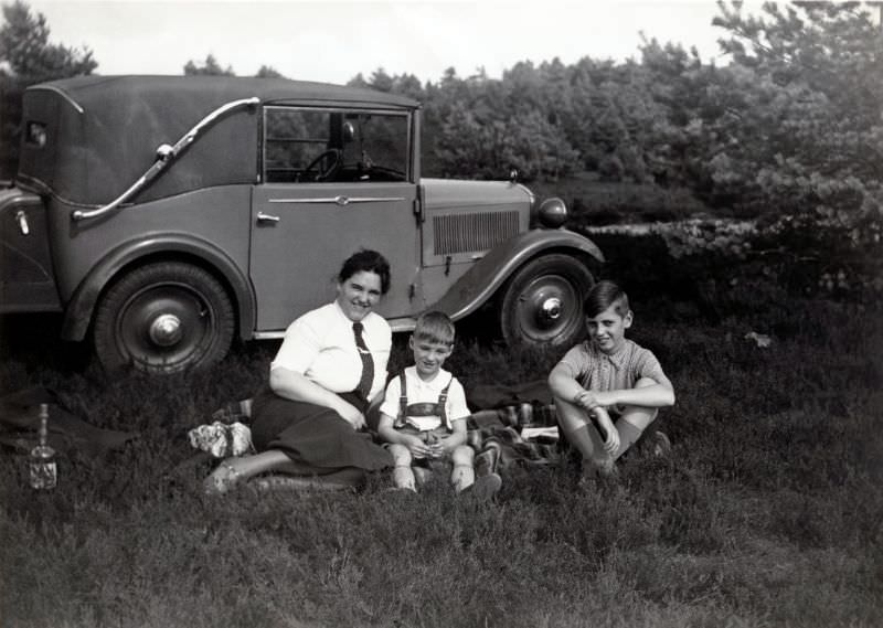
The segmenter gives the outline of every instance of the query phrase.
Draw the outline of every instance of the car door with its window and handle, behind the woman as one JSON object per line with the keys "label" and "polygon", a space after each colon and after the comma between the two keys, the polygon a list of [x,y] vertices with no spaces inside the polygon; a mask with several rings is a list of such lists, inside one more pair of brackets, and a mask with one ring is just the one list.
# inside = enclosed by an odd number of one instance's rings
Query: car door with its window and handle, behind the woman
{"label": "car door with its window and handle, behind the woman", "polygon": [[258,332],[331,301],[341,264],[360,248],[390,260],[391,288],[377,311],[395,318],[421,309],[409,129],[403,111],[265,108],[249,268]]}

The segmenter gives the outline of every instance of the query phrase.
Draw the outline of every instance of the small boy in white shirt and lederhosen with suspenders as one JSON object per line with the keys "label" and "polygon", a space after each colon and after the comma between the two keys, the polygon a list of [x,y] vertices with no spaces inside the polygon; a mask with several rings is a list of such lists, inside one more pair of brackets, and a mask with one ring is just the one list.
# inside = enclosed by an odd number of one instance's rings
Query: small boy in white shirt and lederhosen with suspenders
{"label": "small boy in white shirt and lederhosen with suspenders", "polygon": [[377,427],[387,443],[395,468],[396,488],[416,492],[412,465],[446,459],[453,464],[450,482],[457,492],[491,499],[502,481],[497,473],[475,477],[475,451],[466,444],[469,408],[462,385],[442,369],[454,350],[454,323],[447,315],[430,311],[417,318],[408,344],[414,365],[393,377],[380,407]]}

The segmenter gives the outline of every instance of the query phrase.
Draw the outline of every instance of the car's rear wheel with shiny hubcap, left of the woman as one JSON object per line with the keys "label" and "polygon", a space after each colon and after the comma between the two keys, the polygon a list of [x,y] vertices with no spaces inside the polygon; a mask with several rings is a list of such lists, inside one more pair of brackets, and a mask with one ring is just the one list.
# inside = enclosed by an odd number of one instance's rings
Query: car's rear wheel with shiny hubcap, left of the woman
{"label": "car's rear wheel with shiny hubcap, left of the woman", "polygon": [[180,262],[149,264],[124,275],[102,299],[95,351],[109,371],[201,370],[226,355],[234,323],[230,297],[210,273]]}

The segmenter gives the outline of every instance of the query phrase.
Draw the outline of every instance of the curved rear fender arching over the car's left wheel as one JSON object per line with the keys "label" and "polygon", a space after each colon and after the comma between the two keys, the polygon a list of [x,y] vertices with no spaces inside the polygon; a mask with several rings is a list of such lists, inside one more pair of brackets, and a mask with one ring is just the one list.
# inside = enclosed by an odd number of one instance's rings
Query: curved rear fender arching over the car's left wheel
{"label": "curved rear fender arching over the car's left wheel", "polygon": [[98,298],[126,266],[169,257],[189,257],[217,273],[231,288],[240,319],[240,338],[254,333],[255,296],[242,269],[223,251],[204,240],[181,235],[151,235],[126,242],[98,262],[74,290],[67,302],[62,338],[83,340],[88,331]]}

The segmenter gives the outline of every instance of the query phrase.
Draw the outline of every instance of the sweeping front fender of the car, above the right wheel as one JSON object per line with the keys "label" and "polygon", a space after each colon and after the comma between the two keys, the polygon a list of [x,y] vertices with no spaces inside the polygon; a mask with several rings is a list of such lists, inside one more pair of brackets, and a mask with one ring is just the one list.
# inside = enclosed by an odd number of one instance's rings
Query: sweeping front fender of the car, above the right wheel
{"label": "sweeping front fender of the car, above the right wheel", "polygon": [[551,251],[588,255],[599,264],[604,263],[604,254],[587,237],[567,230],[532,230],[488,252],[433,309],[446,312],[454,320],[461,319],[487,302],[525,262]]}

